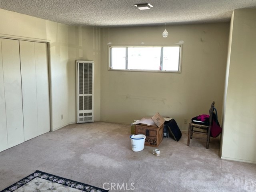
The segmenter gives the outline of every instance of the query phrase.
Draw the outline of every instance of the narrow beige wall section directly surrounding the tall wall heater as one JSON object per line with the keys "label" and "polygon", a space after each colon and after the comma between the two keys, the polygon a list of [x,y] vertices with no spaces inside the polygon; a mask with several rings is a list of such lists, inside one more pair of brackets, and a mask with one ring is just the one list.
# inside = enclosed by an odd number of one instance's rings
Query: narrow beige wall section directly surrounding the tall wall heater
{"label": "narrow beige wall section directly surrounding the tall wall heater", "polygon": [[76,121],[75,60],[94,61],[94,121],[100,120],[100,29],[73,27],[69,30],[69,122]]}

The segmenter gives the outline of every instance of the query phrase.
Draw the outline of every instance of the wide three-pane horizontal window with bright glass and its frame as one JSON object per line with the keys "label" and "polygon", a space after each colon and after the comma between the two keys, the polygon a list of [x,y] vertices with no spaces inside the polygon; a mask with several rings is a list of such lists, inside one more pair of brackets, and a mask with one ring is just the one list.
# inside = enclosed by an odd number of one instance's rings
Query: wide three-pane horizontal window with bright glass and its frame
{"label": "wide three-pane horizontal window with bright glass and its frame", "polygon": [[109,46],[109,70],[181,72],[182,45]]}

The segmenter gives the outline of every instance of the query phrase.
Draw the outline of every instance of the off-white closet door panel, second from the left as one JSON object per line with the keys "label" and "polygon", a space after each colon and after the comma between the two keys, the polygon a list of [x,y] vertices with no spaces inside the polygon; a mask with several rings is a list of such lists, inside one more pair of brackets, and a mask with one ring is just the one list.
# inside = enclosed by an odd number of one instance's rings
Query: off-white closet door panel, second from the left
{"label": "off-white closet door panel, second from the left", "polygon": [[24,142],[19,41],[2,39],[8,148]]}

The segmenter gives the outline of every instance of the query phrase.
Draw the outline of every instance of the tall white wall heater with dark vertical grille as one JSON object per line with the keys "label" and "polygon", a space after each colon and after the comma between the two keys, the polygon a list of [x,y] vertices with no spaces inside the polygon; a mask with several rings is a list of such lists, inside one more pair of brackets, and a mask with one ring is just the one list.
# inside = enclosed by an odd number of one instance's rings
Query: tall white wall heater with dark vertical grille
{"label": "tall white wall heater with dark vertical grille", "polygon": [[94,121],[94,62],[76,61],[76,122]]}

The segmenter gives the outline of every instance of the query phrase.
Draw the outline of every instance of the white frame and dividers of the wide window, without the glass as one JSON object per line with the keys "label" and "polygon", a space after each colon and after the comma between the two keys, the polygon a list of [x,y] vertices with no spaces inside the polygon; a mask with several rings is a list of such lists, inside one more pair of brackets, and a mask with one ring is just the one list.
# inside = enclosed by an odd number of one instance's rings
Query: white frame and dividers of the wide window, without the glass
{"label": "white frame and dividers of the wide window, without the glass", "polygon": [[[161,52],[162,52],[162,48],[163,47],[180,47],[180,56],[179,56],[179,68],[178,71],[174,71],[174,70],[130,70],[130,69],[112,69],[111,68],[111,48],[128,48],[128,47],[161,47]],[[168,73],[181,73],[181,65],[182,65],[182,46],[183,44],[168,44],[168,45],[113,45],[110,44],[108,45],[108,70],[109,71],[139,71],[139,72],[168,72]],[[162,55],[162,53],[161,53]],[[126,56],[127,56],[127,52],[126,52]],[[162,66],[162,56],[161,56],[161,66]],[[126,67],[127,67],[127,57],[126,57]]]}

